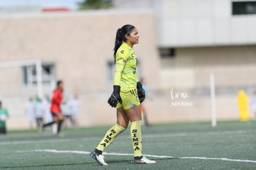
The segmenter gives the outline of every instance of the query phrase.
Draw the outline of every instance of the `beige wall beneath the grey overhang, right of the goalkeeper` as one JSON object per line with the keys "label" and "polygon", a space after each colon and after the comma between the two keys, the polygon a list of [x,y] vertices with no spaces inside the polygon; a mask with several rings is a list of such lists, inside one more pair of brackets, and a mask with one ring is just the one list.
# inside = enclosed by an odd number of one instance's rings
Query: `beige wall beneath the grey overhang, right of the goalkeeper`
{"label": "beige wall beneath the grey overhang, right of the goalkeeper", "polygon": [[[255,45],[177,48],[176,56],[161,59],[159,114],[169,121],[209,121],[210,74],[214,74],[217,119],[239,119],[237,92],[241,89],[247,93],[252,118],[255,54]],[[179,93],[178,98],[171,98],[172,89]],[[187,98],[182,98],[181,93],[186,93]],[[172,106],[173,102],[192,103],[192,106]]]}

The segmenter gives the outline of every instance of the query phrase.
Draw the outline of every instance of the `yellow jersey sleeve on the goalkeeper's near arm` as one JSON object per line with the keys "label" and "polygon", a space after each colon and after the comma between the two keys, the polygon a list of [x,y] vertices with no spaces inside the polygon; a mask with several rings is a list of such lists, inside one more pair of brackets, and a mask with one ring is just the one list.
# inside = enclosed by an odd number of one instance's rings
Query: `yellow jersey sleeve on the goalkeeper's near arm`
{"label": "yellow jersey sleeve on the goalkeeper's near arm", "polygon": [[128,58],[128,51],[117,51],[116,64],[114,66],[114,85],[120,85],[122,70],[124,70]]}

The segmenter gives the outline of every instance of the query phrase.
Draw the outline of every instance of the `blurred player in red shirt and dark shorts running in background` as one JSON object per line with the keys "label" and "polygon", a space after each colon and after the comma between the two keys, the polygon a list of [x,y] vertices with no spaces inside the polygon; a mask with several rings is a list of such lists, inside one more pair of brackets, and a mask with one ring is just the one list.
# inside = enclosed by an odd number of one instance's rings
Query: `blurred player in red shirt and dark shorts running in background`
{"label": "blurred player in red shirt and dark shorts running in background", "polygon": [[48,125],[52,125],[55,122],[58,124],[58,130],[57,134],[59,137],[62,137],[61,134],[61,125],[63,122],[63,114],[61,113],[61,104],[64,104],[65,102],[62,101],[63,98],[63,87],[64,83],[62,80],[59,80],[57,82],[57,88],[53,91],[53,96],[51,98],[51,115],[53,116],[53,122],[49,122],[48,124],[44,124],[43,128],[47,127]]}

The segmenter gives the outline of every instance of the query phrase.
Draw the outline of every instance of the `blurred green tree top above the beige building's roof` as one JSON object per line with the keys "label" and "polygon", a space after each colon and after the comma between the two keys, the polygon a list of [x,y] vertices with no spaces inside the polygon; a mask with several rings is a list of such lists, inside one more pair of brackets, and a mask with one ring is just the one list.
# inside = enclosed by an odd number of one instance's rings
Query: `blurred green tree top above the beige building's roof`
{"label": "blurred green tree top above the beige building's roof", "polygon": [[113,7],[112,0],[84,0],[79,2],[79,10],[109,9]]}

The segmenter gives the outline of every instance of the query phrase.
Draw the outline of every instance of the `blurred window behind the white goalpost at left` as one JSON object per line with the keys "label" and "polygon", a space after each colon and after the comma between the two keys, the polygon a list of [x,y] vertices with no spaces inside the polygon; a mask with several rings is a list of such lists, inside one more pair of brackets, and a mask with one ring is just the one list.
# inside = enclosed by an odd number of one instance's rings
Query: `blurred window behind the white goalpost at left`
{"label": "blurred window behind the white goalpost at left", "polygon": [[[49,85],[51,81],[55,80],[55,68],[54,64],[42,64],[42,82],[44,85]],[[24,85],[36,85],[36,66],[23,66],[22,67],[22,78]]]}

